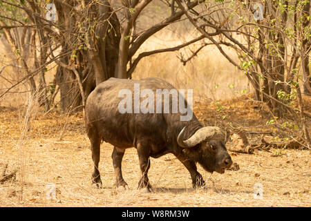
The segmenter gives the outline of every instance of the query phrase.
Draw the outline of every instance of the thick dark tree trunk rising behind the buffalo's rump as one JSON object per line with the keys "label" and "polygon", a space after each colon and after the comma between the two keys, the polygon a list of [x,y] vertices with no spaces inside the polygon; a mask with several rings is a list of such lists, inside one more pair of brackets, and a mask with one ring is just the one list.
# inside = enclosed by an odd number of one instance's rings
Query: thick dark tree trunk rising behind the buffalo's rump
{"label": "thick dark tree trunk rising behind the buffalo's rump", "polygon": [[[87,3],[87,2],[86,2]],[[78,25],[78,18],[68,17],[68,9],[55,3],[59,13],[59,23],[64,23],[66,30],[70,26]],[[69,54],[61,59],[64,64],[75,66],[79,77],[82,79],[84,96],[87,98],[97,84],[114,77],[117,66],[117,52],[120,43],[120,23],[117,15],[113,13],[109,1],[101,1],[91,6],[90,18],[100,17],[95,28],[95,36],[89,38],[87,48],[75,50],[72,45],[64,43],[62,53],[75,51],[74,55]],[[107,19],[109,22],[107,22]],[[69,21],[70,20],[70,21]],[[92,20],[92,19],[90,19]],[[91,21],[90,21],[91,22]],[[88,23],[88,26],[94,23]],[[88,27],[86,27],[88,30]],[[75,42],[75,36],[68,36],[69,41]],[[77,77],[72,70],[59,66],[57,68],[57,84],[59,85],[63,111],[81,111],[82,97],[77,84]]]}

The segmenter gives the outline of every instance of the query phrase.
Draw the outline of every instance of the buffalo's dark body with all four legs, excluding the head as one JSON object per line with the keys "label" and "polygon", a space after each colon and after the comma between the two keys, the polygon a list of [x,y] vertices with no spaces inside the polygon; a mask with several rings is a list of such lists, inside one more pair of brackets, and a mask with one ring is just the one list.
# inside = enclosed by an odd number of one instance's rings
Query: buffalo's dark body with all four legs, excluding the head
{"label": "buffalo's dark body with all four legs, excluding the head", "polygon": [[[93,182],[101,184],[98,162],[100,142],[104,140],[115,146],[112,157],[117,186],[126,186],[126,182],[122,178],[121,162],[125,149],[130,147],[135,147],[138,150],[142,171],[142,178],[139,182],[141,187],[150,187],[147,177],[150,167],[149,157],[160,157],[165,153],[173,153],[187,167],[194,186],[198,182],[202,184],[204,182],[202,176],[196,171],[196,162],[200,163],[200,156],[198,156],[200,151],[196,146],[185,150],[176,141],[182,128],[186,128],[182,138],[187,140],[202,128],[202,124],[198,122],[195,115],[189,121],[180,121],[180,113],[120,113],[118,104],[123,97],[118,97],[118,94],[122,89],[129,89],[133,92],[134,84],[140,84],[140,90],[145,88],[153,90],[155,95],[156,89],[171,90],[174,88],[167,81],[158,78],[141,80],[111,78],[93,90],[86,101],[85,117],[86,131],[91,140],[92,157],[95,164]],[[134,100],[132,104],[134,105]],[[219,145],[221,146],[221,144]],[[227,153],[227,151],[225,152]],[[209,164],[215,163],[213,160],[209,161],[211,161]],[[214,171],[211,167],[212,165],[205,166],[205,169]]]}

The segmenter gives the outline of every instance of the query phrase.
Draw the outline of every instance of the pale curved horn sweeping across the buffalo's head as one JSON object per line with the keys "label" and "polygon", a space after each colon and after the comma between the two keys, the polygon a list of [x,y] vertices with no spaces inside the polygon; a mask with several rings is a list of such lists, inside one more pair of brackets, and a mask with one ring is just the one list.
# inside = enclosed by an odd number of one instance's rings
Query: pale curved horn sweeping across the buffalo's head
{"label": "pale curved horn sweeping across the buffalo's head", "polygon": [[225,134],[217,126],[202,127],[198,129],[198,131],[196,131],[196,133],[194,133],[194,135],[192,135],[188,140],[185,141],[182,140],[182,133],[184,133],[184,130],[185,127],[182,128],[182,131],[180,131],[177,137],[178,145],[184,148],[196,146],[197,144],[200,144],[203,141],[209,139],[225,140]]}

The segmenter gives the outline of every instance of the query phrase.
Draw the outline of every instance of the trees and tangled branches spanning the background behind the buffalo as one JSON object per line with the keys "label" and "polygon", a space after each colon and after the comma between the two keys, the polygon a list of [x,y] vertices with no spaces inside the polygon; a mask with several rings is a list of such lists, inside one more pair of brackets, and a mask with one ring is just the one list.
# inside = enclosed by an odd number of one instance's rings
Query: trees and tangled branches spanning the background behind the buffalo
{"label": "trees and tangled branches spanning the background behind the buffalo", "polygon": [[[53,15],[47,3],[54,4],[57,20],[49,19]],[[73,111],[83,108],[100,82],[109,77],[131,78],[143,57],[200,43],[193,55],[182,58],[185,64],[200,55],[202,48],[214,45],[245,73],[254,88],[254,100],[270,110],[269,123],[277,124],[273,117],[284,117],[277,126],[310,144],[311,114],[303,106],[304,95],[311,94],[310,1],[162,0],[162,21],[142,28],[138,20],[152,3],[1,0],[1,41],[15,56],[15,62],[7,65],[21,75],[0,97],[27,82],[32,93],[42,91],[39,102],[45,111],[54,105],[57,93],[62,109]],[[255,3],[261,3],[263,11]],[[140,50],[157,32],[185,20],[197,31],[194,39],[171,48]],[[232,48],[238,60],[225,48]],[[46,83],[48,64],[57,64],[54,84]],[[294,108],[297,101],[299,108]]]}

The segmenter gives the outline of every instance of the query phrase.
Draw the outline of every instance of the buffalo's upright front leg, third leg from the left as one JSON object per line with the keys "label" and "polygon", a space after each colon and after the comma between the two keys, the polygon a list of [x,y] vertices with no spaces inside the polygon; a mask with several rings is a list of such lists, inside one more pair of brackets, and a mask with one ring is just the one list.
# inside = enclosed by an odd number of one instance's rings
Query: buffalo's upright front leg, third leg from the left
{"label": "buffalo's upright front leg, third leg from the left", "polygon": [[147,192],[150,192],[152,188],[148,179],[150,146],[138,143],[137,152],[140,160],[140,171],[142,172],[142,177],[140,178],[140,182],[138,182],[138,189],[145,189]]}

